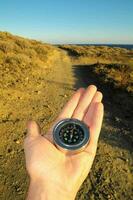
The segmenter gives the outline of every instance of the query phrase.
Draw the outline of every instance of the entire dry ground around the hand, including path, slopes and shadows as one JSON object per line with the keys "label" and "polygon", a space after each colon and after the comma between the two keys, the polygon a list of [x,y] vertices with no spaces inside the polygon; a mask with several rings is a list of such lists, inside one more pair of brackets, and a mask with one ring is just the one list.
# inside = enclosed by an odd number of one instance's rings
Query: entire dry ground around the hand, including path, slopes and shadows
{"label": "entire dry ground around the hand, including path, slopes and shadows", "polygon": [[0,199],[25,199],[23,139],[28,119],[44,133],[79,87],[95,84],[105,116],[91,172],[76,200],[133,196],[133,51],[52,46],[0,32]]}

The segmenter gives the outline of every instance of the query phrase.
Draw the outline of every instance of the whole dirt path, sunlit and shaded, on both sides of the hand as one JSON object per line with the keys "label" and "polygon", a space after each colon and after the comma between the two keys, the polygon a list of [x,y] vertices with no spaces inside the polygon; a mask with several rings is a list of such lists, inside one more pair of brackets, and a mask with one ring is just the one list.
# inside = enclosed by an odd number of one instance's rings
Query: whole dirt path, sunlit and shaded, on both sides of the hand
{"label": "whole dirt path, sunlit and shaded, on both sides of the hand", "polygon": [[[62,66],[42,71],[30,79],[24,88],[5,91],[0,122],[1,135],[1,185],[0,199],[24,199],[28,178],[24,168],[23,138],[25,123],[29,118],[38,119],[44,131],[50,127],[64,104],[78,87],[96,84],[104,94],[105,117],[97,156],[77,200],[121,199],[133,196],[133,153],[131,143],[132,113],[130,97],[126,106],[123,98],[100,83],[88,66]],[[117,100],[114,100],[114,97]],[[129,111],[127,110],[130,107]],[[122,109],[123,108],[123,109]],[[2,113],[1,113],[2,114]],[[127,116],[126,116],[127,114]],[[128,123],[127,123],[128,122]]]}

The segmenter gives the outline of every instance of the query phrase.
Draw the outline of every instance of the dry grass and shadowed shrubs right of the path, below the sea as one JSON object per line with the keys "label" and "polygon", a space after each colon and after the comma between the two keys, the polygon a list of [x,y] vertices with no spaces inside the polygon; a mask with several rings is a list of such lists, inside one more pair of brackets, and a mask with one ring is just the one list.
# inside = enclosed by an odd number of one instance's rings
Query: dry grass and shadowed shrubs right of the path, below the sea
{"label": "dry grass and shadowed shrubs right of the path, below the sea", "polygon": [[94,64],[104,83],[133,93],[133,50],[107,46],[60,45],[73,64]]}

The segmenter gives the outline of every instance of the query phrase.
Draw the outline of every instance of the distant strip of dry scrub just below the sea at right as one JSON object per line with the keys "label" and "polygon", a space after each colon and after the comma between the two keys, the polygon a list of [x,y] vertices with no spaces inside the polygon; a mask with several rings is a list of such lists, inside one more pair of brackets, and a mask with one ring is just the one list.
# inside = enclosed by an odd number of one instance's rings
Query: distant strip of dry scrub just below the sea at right
{"label": "distant strip of dry scrub just below the sea at right", "polygon": [[73,61],[94,59],[104,62],[126,62],[133,57],[133,50],[108,46],[80,46],[80,45],[59,45],[59,48],[66,50]]}

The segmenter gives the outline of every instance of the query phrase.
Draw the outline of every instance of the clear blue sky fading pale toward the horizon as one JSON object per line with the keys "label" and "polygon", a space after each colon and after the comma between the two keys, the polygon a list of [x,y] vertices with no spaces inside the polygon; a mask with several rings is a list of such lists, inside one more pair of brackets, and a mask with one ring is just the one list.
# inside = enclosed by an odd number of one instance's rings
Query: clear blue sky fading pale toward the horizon
{"label": "clear blue sky fading pale toward the horizon", "polygon": [[0,31],[55,44],[133,44],[133,0],[0,0]]}

